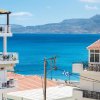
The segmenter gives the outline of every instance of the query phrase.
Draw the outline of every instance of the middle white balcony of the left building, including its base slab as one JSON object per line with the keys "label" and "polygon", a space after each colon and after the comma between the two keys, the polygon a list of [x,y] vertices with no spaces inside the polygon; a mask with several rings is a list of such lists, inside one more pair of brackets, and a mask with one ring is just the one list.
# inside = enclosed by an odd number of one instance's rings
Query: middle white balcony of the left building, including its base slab
{"label": "middle white balcony of the left building, including its base slab", "polygon": [[7,53],[6,55],[0,53],[0,64],[15,64],[18,62],[17,53]]}

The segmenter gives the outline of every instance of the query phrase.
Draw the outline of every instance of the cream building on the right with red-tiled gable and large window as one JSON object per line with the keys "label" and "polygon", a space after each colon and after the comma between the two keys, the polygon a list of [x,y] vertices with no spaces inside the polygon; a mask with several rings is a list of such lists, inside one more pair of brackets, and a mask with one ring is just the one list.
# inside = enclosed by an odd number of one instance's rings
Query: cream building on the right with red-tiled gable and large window
{"label": "cream building on the right with red-tiled gable and large window", "polygon": [[73,90],[73,100],[100,100],[100,40],[87,49],[88,67],[73,64],[73,72],[80,73],[80,88]]}

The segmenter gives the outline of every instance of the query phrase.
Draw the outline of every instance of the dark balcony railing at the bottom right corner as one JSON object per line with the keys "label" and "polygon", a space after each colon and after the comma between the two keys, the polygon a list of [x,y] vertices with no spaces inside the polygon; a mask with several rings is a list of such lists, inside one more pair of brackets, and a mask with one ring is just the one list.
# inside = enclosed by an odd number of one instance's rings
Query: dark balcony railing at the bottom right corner
{"label": "dark balcony railing at the bottom right corner", "polygon": [[100,100],[100,92],[83,90],[83,97]]}

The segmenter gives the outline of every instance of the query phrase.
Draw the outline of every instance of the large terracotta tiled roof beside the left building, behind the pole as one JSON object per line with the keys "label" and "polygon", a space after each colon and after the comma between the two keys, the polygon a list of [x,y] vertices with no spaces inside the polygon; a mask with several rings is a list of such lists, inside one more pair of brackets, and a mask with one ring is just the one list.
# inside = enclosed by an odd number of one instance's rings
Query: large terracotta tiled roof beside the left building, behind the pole
{"label": "large terracotta tiled roof beside the left building, behind the pole", "polygon": [[[8,78],[14,78],[17,81],[17,91],[42,88],[43,79],[39,76],[23,76],[14,73],[8,73]],[[58,83],[47,80],[47,87],[57,86]]]}

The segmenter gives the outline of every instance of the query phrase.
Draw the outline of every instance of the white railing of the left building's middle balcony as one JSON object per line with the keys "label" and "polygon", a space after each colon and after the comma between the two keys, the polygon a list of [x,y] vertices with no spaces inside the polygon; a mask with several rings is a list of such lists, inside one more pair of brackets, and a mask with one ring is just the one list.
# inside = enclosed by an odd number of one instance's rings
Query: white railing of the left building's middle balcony
{"label": "white railing of the left building's middle balcony", "polygon": [[16,61],[16,60],[18,60],[17,53],[7,53],[6,55],[0,53],[0,61]]}

